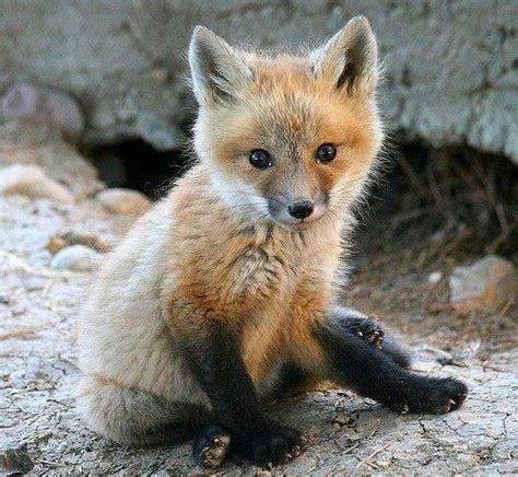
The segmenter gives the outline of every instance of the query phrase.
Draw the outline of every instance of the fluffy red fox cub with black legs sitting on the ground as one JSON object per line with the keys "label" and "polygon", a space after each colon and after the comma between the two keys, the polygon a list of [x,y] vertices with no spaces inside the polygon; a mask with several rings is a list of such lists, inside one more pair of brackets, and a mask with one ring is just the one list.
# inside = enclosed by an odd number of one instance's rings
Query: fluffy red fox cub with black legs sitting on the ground
{"label": "fluffy red fox cub with black legs sitting on the ground", "polygon": [[[463,383],[407,370],[334,302],[352,207],[376,170],[377,47],[364,18],[307,56],[196,27],[197,164],[111,254],[80,326],[79,406],[121,444],[193,439],[201,465],[302,452],[264,397],[330,380],[396,411],[447,412]],[[387,342],[388,341],[388,342]]]}

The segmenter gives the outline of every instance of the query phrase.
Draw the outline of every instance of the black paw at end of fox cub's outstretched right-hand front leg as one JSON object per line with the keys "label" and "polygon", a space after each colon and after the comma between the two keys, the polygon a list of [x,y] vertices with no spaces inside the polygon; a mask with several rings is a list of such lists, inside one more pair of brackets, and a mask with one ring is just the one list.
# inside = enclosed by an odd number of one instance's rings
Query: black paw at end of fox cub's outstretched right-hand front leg
{"label": "black paw at end of fox cub's outstretched right-hand front leg", "polygon": [[461,381],[451,377],[423,379],[419,385],[411,386],[408,391],[408,398],[405,402],[398,403],[395,406],[396,410],[402,412],[445,414],[462,406],[468,396],[468,386]]}

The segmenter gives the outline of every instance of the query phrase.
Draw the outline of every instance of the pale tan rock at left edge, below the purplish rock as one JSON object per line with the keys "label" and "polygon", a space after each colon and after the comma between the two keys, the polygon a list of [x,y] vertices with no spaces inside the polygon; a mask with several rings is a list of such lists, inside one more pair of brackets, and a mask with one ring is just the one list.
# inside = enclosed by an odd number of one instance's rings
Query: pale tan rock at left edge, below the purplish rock
{"label": "pale tan rock at left edge, below the purplish rock", "polygon": [[37,165],[13,164],[0,168],[0,195],[22,195],[71,203],[73,196],[64,186],[48,177]]}

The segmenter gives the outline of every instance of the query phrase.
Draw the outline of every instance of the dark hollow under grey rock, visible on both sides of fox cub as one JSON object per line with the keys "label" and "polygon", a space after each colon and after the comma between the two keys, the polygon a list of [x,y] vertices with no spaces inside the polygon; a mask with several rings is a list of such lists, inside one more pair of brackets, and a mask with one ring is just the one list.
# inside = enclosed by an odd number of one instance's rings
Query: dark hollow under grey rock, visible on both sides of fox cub
{"label": "dark hollow under grey rock, visible on both sides of fox cub", "polygon": [[[87,155],[109,187],[133,188],[153,200],[189,167],[188,154],[157,151],[142,140],[97,147]],[[518,166],[511,161],[424,142],[395,143],[388,159],[358,212],[362,251],[389,253],[442,233],[457,255],[494,253],[518,261]]]}

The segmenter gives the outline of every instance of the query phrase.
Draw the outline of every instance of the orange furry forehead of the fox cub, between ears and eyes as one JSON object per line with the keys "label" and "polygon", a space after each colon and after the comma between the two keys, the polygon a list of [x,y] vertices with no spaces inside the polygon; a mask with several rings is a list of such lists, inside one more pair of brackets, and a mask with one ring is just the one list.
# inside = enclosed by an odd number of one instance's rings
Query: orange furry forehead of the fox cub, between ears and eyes
{"label": "orange furry forehead of the fox cub, between ears and eyes", "polygon": [[254,85],[225,121],[234,126],[227,135],[251,149],[278,147],[285,152],[353,141],[361,108],[320,88],[307,62],[294,60],[292,66],[272,61],[258,68]]}

